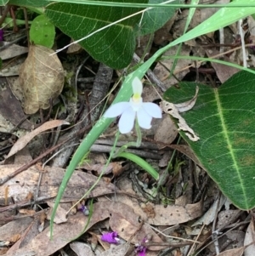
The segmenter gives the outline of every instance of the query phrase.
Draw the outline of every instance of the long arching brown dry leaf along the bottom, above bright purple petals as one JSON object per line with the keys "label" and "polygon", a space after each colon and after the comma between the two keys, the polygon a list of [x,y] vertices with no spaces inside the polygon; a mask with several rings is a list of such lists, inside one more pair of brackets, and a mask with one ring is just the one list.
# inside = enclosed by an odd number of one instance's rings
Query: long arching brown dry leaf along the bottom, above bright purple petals
{"label": "long arching brown dry leaf along the bottom, above bright purple petals", "polygon": [[[121,210],[121,211],[120,211]],[[121,202],[97,202],[94,203],[93,214],[88,224],[88,229],[94,224],[104,219],[110,218],[111,229],[116,230],[119,236],[130,239],[133,234],[132,242],[140,242],[144,236],[152,235],[152,242],[162,242],[161,238],[150,229],[148,225],[143,225],[139,230],[140,223],[138,216],[133,213],[132,208],[127,207]],[[17,249],[12,256],[24,255],[24,253],[35,252],[36,255],[48,256],[60,248],[65,247],[74,237],[81,235],[87,225],[88,217],[82,213],[69,216],[68,221],[61,224],[54,224],[54,240],[49,239],[49,227],[37,234],[25,247]],[[162,247],[159,247],[160,249]],[[153,247],[153,249],[158,249]],[[23,253],[23,254],[22,254]]]}

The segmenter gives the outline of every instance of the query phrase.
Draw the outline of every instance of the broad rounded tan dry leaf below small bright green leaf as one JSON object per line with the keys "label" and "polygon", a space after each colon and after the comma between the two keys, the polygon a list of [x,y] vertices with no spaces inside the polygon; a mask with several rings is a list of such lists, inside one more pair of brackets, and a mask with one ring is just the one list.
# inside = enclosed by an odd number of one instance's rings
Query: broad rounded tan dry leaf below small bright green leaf
{"label": "broad rounded tan dry leaf below small bright green leaf", "polygon": [[47,109],[51,99],[62,91],[65,74],[61,62],[52,49],[31,45],[20,68],[20,87],[24,94],[24,111],[34,114]]}

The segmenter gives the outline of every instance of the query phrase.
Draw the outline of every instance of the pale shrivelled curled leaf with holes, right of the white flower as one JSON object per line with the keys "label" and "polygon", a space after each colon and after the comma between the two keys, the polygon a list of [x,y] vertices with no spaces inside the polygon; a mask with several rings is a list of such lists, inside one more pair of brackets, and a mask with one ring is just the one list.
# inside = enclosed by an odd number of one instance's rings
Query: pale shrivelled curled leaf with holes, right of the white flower
{"label": "pale shrivelled curled leaf with holes, right of the white flower", "polygon": [[195,100],[197,98],[199,88],[195,88],[195,96],[184,103],[181,104],[173,104],[170,102],[167,102],[166,100],[161,101],[161,108],[163,111],[165,111],[167,114],[171,115],[172,117],[178,119],[178,131],[182,130],[185,132],[186,136],[192,140],[192,141],[197,141],[200,139],[195,132],[193,131],[192,128],[189,127],[189,125],[186,123],[184,120],[184,117],[181,117],[179,112],[184,112],[184,111],[189,111],[194,105],[195,105]]}

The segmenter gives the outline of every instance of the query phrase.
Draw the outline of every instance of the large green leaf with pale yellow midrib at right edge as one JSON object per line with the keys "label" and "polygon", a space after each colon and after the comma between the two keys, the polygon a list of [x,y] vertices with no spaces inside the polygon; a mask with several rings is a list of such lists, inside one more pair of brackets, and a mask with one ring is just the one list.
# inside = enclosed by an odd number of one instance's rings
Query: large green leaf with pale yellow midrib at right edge
{"label": "large green leaf with pale yellow midrib at right edge", "polygon": [[[182,114],[200,137],[184,134],[207,173],[236,207],[255,207],[255,76],[241,71],[219,88],[199,85],[195,107]],[[195,82],[181,82],[164,94],[173,103],[190,100]]]}

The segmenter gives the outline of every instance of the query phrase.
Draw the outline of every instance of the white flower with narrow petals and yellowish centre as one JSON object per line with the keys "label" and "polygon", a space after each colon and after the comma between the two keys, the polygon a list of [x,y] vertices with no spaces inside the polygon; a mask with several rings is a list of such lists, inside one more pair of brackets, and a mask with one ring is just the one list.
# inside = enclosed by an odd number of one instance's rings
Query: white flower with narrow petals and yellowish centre
{"label": "white flower with narrow petals and yellowish centre", "polygon": [[105,117],[122,116],[119,121],[119,129],[121,134],[129,133],[137,117],[139,127],[150,129],[152,117],[161,118],[161,108],[151,102],[143,102],[141,94],[143,92],[143,84],[138,77],[134,77],[132,82],[133,97],[129,102],[119,102],[105,111]]}

